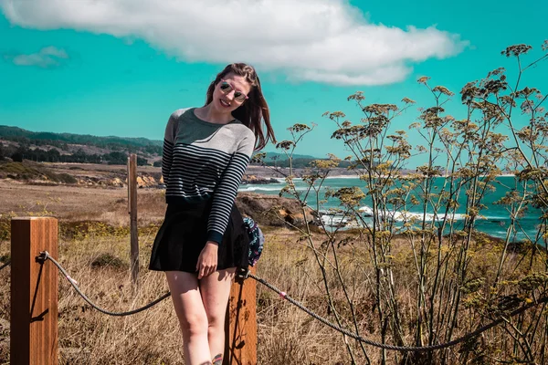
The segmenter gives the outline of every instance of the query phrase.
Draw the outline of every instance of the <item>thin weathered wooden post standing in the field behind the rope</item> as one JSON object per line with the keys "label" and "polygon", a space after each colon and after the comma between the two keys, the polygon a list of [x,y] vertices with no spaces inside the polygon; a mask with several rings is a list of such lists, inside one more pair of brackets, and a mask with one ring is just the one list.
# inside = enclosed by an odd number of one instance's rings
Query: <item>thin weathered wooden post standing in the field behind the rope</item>
{"label": "thin weathered wooden post standing in the field behind the rope", "polygon": [[139,276],[139,237],[137,235],[137,155],[130,154],[128,159],[128,204],[130,212],[130,266],[133,288],[137,288]]}

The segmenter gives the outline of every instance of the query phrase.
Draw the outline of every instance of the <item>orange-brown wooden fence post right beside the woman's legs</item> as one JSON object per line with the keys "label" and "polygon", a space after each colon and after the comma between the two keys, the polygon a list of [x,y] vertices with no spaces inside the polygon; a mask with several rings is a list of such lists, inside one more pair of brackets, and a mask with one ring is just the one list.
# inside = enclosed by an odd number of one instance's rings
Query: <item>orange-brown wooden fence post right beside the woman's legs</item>
{"label": "orange-brown wooden fence post right beside the woman's legs", "polygon": [[[257,266],[251,267],[255,274]],[[257,365],[257,282],[236,280],[230,288],[223,365]]]}

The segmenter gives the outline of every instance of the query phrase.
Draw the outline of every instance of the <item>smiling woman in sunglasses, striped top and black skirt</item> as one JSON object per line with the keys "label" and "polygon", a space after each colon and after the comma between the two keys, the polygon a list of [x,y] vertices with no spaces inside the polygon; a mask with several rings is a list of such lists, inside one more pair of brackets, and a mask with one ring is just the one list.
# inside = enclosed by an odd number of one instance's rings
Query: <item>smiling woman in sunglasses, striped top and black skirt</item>
{"label": "smiling woman in sunglasses, striped top and black skirt", "polygon": [[167,122],[167,211],[149,268],[165,272],[186,364],[223,362],[230,286],[248,255],[234,200],[252,152],[269,140],[275,137],[267,101],[255,69],[243,63],[216,76],[204,107],[176,110]]}

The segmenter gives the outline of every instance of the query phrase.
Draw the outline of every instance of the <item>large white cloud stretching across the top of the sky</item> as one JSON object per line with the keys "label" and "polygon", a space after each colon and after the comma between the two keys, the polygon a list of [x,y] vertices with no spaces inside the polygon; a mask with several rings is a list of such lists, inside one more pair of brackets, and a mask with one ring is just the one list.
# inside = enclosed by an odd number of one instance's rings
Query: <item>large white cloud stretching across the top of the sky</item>
{"label": "large white cloud stretching across the top of the sky", "polygon": [[141,37],[187,61],[245,61],[343,85],[400,81],[467,42],[435,27],[368,23],[345,0],[0,0],[11,22]]}

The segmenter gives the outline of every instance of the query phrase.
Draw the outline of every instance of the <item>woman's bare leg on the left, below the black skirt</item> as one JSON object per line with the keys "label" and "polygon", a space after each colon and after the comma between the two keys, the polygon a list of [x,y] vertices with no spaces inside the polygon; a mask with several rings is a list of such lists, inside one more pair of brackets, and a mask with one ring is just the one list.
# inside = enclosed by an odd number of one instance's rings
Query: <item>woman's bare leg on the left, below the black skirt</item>
{"label": "woman's bare leg on the left, below the black skirt", "polygon": [[207,315],[200,296],[198,277],[181,271],[166,271],[165,276],[183,332],[184,363],[211,364]]}

